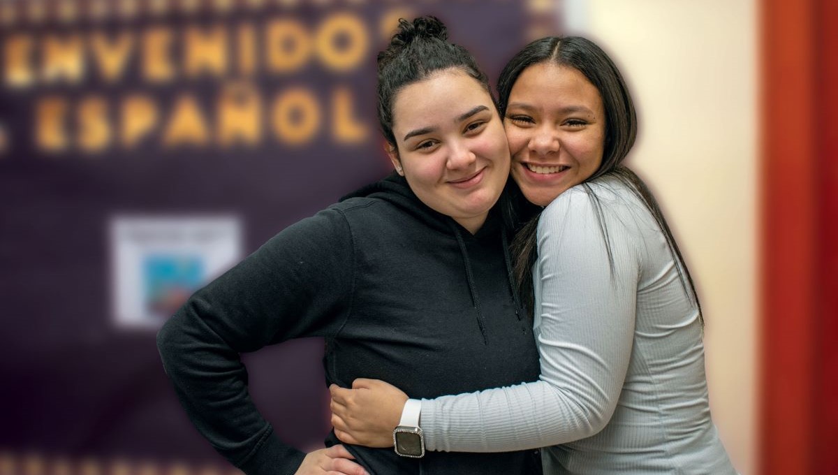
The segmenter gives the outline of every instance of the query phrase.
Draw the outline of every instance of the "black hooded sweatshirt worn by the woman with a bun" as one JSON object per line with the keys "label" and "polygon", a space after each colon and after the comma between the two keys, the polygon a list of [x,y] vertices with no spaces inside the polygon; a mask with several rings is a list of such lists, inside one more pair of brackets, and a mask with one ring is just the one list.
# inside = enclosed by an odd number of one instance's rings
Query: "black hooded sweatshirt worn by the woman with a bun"
{"label": "black hooded sweatshirt worn by the woman with a bun", "polygon": [[[321,336],[327,384],[355,378],[431,398],[535,380],[530,318],[511,289],[497,213],[477,234],[427,207],[395,173],[282,230],[195,292],[158,333],[189,418],[247,475],[292,474],[247,392],[240,353]],[[327,445],[340,443],[334,432]],[[532,473],[532,451],[494,454],[346,446],[370,473]]]}

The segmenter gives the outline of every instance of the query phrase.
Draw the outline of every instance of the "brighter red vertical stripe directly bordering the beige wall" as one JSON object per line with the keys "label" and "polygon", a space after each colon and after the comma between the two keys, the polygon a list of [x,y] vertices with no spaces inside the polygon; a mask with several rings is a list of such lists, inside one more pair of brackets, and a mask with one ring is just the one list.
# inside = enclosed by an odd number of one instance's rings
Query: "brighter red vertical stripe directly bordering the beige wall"
{"label": "brighter red vertical stripe directly bordering the beige wall", "polygon": [[814,468],[815,0],[762,3],[760,472]]}

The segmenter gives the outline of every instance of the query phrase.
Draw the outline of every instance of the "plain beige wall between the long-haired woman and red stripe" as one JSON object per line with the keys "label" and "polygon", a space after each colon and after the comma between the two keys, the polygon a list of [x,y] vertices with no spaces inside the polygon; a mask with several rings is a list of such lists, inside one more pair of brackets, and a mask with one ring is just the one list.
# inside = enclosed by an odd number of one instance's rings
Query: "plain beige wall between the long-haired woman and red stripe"
{"label": "plain beige wall between the long-haired woman and red stripe", "polygon": [[734,465],[754,473],[755,0],[566,0],[564,8],[570,28],[612,54],[632,88],[640,135],[629,165],[660,200],[696,279],[713,418]]}

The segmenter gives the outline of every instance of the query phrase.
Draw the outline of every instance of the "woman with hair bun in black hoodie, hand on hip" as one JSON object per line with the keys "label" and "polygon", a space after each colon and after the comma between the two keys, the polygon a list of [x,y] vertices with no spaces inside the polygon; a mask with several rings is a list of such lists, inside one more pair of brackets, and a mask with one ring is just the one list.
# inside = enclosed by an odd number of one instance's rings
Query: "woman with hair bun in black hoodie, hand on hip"
{"label": "woman with hair bun in black hoodie, hand on hip", "polygon": [[[379,117],[396,173],[274,236],[158,333],[189,418],[247,475],[540,472],[531,451],[303,453],[256,409],[239,358],[324,337],[327,385],[385,379],[411,398],[537,378],[496,205],[510,170],[503,125],[486,75],[446,36],[436,18],[402,20],[379,54]],[[333,432],[326,445],[336,444]]]}

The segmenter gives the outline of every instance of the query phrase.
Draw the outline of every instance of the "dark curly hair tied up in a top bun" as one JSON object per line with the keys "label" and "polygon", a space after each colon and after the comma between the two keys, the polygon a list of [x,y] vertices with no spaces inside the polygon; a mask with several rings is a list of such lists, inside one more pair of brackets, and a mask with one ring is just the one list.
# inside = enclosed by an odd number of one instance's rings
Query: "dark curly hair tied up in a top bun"
{"label": "dark curly hair tied up in a top bun", "polygon": [[378,54],[378,119],[381,133],[392,146],[393,101],[401,88],[425,80],[437,71],[458,69],[478,81],[489,96],[489,78],[467,49],[447,41],[445,24],[427,16],[412,22],[399,19],[399,28],[390,45]]}

